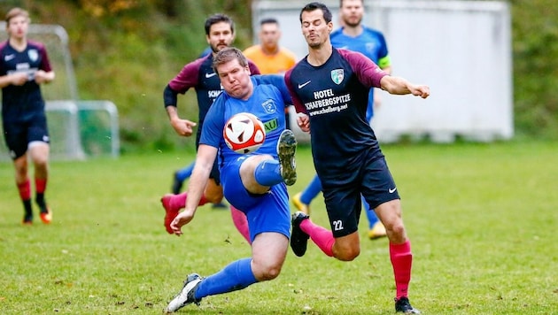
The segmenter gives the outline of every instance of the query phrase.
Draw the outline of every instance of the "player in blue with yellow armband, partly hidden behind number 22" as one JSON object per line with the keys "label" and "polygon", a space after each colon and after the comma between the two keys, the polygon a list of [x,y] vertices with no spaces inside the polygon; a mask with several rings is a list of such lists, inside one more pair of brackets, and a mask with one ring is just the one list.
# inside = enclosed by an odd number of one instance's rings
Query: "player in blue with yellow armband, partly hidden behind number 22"
{"label": "player in blue with yellow armband, partly hidden behind number 22", "polygon": [[[387,44],[384,35],[376,29],[362,25],[364,16],[364,4],[362,0],[340,0],[339,18],[342,27],[331,32],[329,39],[335,48],[359,51],[364,56],[370,58],[385,73],[391,74],[391,59],[388,55]],[[368,108],[366,120],[369,122],[374,116],[374,106],[379,103],[374,96],[374,89],[370,88],[368,95]],[[310,214],[310,203],[322,191],[322,183],[318,176],[308,183],[306,188],[295,196],[292,196],[292,203],[299,211]],[[368,218],[368,238],[375,240],[385,236],[385,227],[376,217],[376,212],[371,209],[364,198],[365,213]]]}

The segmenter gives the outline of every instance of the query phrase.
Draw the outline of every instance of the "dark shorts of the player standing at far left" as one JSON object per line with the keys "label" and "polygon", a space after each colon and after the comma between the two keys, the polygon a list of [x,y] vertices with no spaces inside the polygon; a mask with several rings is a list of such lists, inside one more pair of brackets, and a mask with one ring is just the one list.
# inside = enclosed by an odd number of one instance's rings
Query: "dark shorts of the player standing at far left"
{"label": "dark shorts of the player standing at far left", "polygon": [[44,112],[37,112],[24,121],[4,120],[4,139],[12,159],[23,156],[30,142],[49,143],[49,129]]}

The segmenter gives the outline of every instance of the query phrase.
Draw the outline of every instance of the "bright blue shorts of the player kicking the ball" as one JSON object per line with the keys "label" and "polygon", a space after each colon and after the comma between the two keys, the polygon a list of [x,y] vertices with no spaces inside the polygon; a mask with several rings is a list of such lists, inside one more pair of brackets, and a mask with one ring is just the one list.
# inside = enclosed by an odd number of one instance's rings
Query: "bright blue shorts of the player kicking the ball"
{"label": "bright blue shorts of the player kicking the ball", "polygon": [[221,185],[227,201],[236,209],[243,211],[248,219],[250,240],[257,234],[275,232],[291,236],[291,208],[289,195],[284,183],[274,185],[263,195],[249,193],[240,179],[240,165],[244,163],[244,155],[236,158],[221,168]]}

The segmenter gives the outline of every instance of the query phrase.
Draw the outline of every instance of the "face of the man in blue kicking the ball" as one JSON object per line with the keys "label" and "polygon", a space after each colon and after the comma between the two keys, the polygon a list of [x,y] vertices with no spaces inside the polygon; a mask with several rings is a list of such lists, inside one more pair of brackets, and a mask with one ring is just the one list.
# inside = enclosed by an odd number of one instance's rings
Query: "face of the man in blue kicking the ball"
{"label": "face of the man in blue kicking the ball", "polygon": [[248,65],[242,66],[238,63],[238,59],[234,58],[227,63],[218,65],[217,73],[223,89],[229,96],[245,99],[251,95],[252,82]]}

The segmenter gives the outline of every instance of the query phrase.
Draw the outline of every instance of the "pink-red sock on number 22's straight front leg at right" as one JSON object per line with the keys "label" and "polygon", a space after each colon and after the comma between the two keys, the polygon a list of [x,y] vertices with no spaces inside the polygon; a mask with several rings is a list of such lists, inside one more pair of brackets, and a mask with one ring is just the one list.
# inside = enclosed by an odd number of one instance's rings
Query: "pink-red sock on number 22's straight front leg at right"
{"label": "pink-red sock on number 22's straight front leg at right", "polygon": [[411,242],[407,240],[402,244],[390,243],[390,258],[395,275],[395,288],[397,298],[407,296],[409,282],[411,281],[411,265],[413,265],[413,254],[411,253]]}

